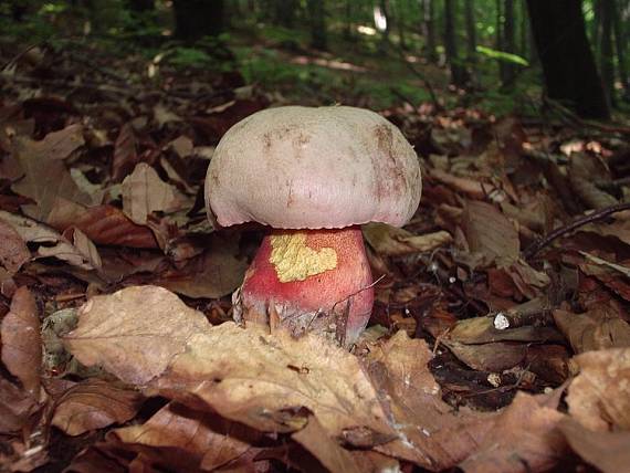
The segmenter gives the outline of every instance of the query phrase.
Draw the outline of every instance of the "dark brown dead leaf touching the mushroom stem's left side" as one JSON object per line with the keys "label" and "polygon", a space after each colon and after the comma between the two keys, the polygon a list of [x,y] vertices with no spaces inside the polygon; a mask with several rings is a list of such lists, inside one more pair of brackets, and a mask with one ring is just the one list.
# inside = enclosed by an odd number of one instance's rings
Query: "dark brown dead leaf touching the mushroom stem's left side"
{"label": "dark brown dead leaf touching the mushroom stem's left side", "polygon": [[209,249],[182,270],[162,275],[157,284],[188,297],[222,297],[242,282],[248,262],[239,257],[239,241],[212,234]]}

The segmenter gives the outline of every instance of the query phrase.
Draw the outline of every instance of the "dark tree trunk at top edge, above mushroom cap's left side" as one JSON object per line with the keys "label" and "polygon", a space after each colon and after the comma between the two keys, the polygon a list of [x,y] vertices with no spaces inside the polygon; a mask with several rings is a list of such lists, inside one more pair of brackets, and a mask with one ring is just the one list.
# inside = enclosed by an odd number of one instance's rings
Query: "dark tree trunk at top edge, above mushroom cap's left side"
{"label": "dark tree trunk at top edge, above mushroom cap's left side", "polygon": [[223,0],[172,0],[175,35],[192,42],[223,31]]}

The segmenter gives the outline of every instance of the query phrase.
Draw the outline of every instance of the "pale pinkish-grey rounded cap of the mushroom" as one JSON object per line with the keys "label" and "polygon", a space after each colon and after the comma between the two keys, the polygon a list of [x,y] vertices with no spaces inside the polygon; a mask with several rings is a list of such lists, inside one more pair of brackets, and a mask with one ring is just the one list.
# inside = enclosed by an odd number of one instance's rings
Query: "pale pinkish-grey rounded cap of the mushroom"
{"label": "pale pinkish-grey rounded cap of the mushroom", "polygon": [[285,106],[250,115],[221,138],[206,177],[206,207],[222,227],[400,227],[421,191],[416,151],[380,115]]}

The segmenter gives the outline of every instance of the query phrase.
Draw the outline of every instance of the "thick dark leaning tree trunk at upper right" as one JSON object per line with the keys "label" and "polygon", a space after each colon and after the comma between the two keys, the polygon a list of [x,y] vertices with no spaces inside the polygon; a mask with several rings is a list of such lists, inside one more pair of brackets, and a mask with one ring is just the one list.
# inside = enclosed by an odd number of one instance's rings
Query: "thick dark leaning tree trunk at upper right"
{"label": "thick dark leaning tree trunk at upper right", "polygon": [[609,118],[580,0],[527,0],[532,30],[549,98],[566,102],[582,117]]}

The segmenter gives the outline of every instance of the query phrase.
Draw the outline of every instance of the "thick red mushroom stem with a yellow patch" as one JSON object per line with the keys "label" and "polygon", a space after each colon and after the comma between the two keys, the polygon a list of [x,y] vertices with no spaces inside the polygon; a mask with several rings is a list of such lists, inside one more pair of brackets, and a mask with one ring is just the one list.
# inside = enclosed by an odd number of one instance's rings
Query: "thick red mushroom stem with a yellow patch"
{"label": "thick red mushroom stem with a yellow patch", "polygon": [[274,230],[233,299],[239,323],[294,336],[317,333],[350,346],[374,304],[360,229]]}

